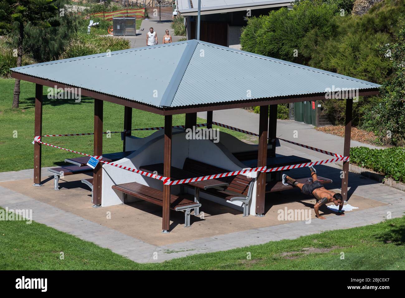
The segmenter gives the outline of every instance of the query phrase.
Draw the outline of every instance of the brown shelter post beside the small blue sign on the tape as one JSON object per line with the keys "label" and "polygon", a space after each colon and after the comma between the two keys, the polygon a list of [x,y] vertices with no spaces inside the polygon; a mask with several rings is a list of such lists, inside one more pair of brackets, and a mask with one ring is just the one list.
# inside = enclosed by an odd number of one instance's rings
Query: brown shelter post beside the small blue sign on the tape
{"label": "brown shelter post beside the small blue sign on the tape", "polygon": [[[102,155],[102,114],[103,101],[94,99],[94,150],[93,155]],[[102,163],[98,163],[93,170],[93,204],[101,205]]]}

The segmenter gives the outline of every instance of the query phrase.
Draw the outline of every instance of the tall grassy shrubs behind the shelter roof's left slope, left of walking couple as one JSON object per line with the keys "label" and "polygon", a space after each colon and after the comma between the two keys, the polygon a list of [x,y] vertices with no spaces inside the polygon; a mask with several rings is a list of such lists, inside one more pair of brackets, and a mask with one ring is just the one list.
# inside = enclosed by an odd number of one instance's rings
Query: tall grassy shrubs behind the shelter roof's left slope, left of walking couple
{"label": "tall grassy shrubs behind the shelter roof's left slope, left of walking couple", "polygon": [[70,41],[65,52],[60,56],[60,59],[106,53],[108,50],[119,51],[129,48],[130,42],[123,38],[79,33],[77,38]]}

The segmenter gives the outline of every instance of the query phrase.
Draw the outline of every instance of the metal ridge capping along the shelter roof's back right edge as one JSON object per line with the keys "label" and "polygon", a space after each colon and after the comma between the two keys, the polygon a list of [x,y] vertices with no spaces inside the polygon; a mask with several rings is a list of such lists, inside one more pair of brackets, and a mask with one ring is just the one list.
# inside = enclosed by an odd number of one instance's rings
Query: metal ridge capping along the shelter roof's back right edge
{"label": "metal ridge capping along the shelter roof's back right edge", "polygon": [[[347,75],[341,75],[340,73],[333,73],[331,71],[324,71],[322,69],[315,69],[314,67],[311,67],[311,66],[306,66],[306,65],[302,65],[302,64],[298,64],[298,63],[294,63],[294,62],[289,62],[289,61],[285,61],[285,60],[281,60],[281,59],[276,59],[276,58],[272,58],[272,57],[268,57],[268,56],[263,56],[263,55],[260,55],[260,54],[250,53],[250,52],[242,51],[242,50],[238,50],[238,49],[232,49],[231,47],[224,47],[224,46],[221,46],[221,45],[215,45],[213,43],[208,43],[208,42],[204,42],[202,44],[210,46],[210,47],[216,47],[218,49],[223,49],[225,51],[232,51],[232,52],[235,52],[235,53],[238,53],[238,54],[243,54],[243,55],[246,55],[246,56],[252,56],[254,58],[269,60],[269,61],[275,62],[275,63],[280,63],[280,64],[285,64],[285,65],[288,65],[288,66],[298,67],[298,68],[301,68],[301,69],[305,69],[307,71],[313,71],[315,73],[322,73],[324,75],[330,75],[330,76],[333,76],[333,77],[338,77],[340,79],[347,79],[347,80],[350,80],[350,81],[355,81],[355,82],[366,84],[366,85],[369,85],[369,86],[373,86],[371,84],[375,84],[373,82],[364,81],[362,79],[356,79],[355,77],[349,77]],[[378,84],[375,84],[375,85],[378,85]],[[375,87],[375,86],[373,86],[373,87]]]}

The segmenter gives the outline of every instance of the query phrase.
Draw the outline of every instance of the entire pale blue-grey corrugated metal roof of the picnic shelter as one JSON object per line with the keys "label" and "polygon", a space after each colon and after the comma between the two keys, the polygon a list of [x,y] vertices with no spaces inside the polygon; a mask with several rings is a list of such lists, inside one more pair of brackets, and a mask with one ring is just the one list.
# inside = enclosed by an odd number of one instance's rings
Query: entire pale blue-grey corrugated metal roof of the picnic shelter
{"label": "entire pale blue-grey corrugated metal roof of the picnic shelter", "polygon": [[183,107],[380,85],[203,41],[58,60],[12,69],[156,107]]}

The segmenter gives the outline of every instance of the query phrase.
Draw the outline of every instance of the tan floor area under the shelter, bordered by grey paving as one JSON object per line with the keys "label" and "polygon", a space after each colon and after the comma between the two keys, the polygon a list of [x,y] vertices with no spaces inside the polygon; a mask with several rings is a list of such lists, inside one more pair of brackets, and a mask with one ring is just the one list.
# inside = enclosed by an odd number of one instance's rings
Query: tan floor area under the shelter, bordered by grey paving
{"label": "tan floor area under the shelter, bordered by grey paving", "polygon": [[[277,219],[278,211],[285,210],[286,207],[288,210],[311,210],[313,221],[320,220],[315,218],[312,208],[315,199],[307,199],[297,189],[268,194],[266,196],[266,214],[262,218],[252,215],[242,217],[242,212],[202,199],[203,206],[200,211],[204,212],[204,219],[191,216],[191,227],[185,228],[183,226],[183,213],[171,211],[171,232],[170,234],[162,234],[162,208],[159,206],[140,201],[128,205],[92,208],[90,189],[80,182],[81,179],[88,177],[85,174],[66,176],[60,180],[59,191],[53,190],[53,176],[45,179],[41,187],[32,187],[32,179],[2,182],[0,186],[154,245],[215,237],[232,232],[288,223],[289,221]],[[356,195],[352,195],[350,204],[359,207],[359,209],[350,212],[386,205]],[[321,215],[327,218],[336,216],[327,208],[321,212]]]}

